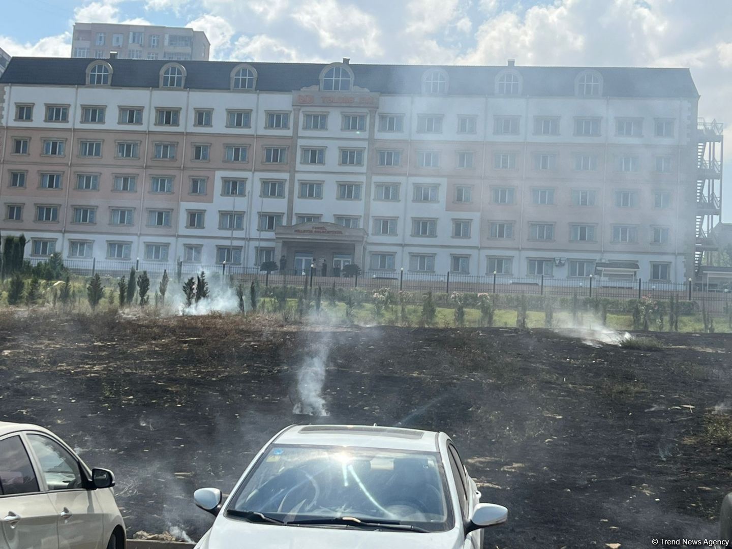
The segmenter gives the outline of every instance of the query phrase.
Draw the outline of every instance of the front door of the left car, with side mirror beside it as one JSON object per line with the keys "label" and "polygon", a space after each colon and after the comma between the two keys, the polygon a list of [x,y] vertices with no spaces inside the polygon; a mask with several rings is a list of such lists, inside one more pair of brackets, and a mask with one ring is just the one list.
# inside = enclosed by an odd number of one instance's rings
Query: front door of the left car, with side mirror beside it
{"label": "front door of the left car, with side mirror beside it", "polygon": [[105,549],[102,509],[87,490],[81,464],[59,441],[26,433],[42,483],[58,513],[59,549]]}

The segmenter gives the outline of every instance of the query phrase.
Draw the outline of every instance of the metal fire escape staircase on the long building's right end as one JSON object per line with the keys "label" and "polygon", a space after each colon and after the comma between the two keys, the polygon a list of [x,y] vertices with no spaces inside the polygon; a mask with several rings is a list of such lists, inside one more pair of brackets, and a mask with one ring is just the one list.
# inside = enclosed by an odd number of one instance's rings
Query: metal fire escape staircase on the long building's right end
{"label": "metal fire escape staircase on the long building's right end", "polygon": [[[712,229],[722,215],[723,124],[698,119],[696,170],[695,270],[712,265],[712,252],[719,251]],[[706,259],[706,261],[705,261]]]}

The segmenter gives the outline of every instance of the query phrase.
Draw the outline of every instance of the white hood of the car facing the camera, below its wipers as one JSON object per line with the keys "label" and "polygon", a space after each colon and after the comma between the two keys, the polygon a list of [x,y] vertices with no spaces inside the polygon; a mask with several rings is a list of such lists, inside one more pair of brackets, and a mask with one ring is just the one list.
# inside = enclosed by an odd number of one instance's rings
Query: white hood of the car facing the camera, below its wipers
{"label": "white hood of the car facing the camera, below its wipers", "polygon": [[463,547],[460,531],[420,533],[373,531],[342,526],[279,526],[249,523],[219,517],[196,549],[458,549]]}

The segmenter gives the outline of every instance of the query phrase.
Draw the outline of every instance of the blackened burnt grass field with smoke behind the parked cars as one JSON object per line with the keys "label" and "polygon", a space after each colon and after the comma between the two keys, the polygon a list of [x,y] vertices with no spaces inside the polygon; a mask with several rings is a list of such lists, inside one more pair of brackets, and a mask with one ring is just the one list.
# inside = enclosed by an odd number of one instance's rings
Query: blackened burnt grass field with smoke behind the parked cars
{"label": "blackened burnt grass field with smoke behind the parked cars", "polygon": [[296,373],[328,349],[330,417],[311,421],[446,431],[483,501],[509,507],[486,547],[716,537],[732,335],[654,337],[662,348],[642,351],[543,329],[3,314],[0,419],[50,427],[112,468],[130,537],[198,539],[212,519],[193,490],[228,492],[277,430],[308,421],[293,414]]}

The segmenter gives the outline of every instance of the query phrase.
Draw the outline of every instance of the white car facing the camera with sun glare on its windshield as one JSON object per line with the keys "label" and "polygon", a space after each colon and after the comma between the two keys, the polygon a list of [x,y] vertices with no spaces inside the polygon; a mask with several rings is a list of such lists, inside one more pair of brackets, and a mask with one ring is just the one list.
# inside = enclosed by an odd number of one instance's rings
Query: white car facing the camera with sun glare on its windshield
{"label": "white car facing the camera with sun glare on its windshield", "polygon": [[479,549],[482,529],[508,515],[479,503],[445,433],[397,427],[287,427],[231,496],[201,488],[193,498],[216,515],[197,549]]}

